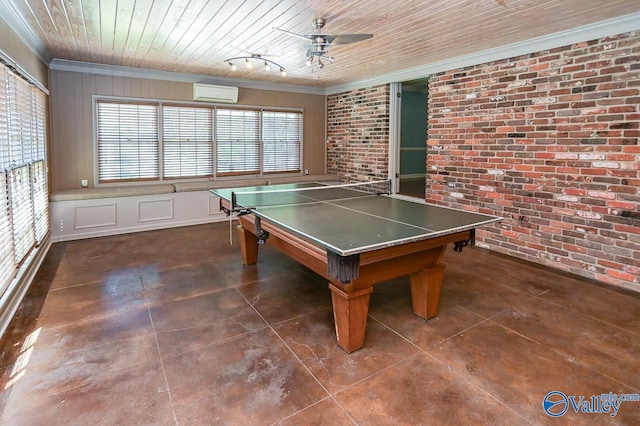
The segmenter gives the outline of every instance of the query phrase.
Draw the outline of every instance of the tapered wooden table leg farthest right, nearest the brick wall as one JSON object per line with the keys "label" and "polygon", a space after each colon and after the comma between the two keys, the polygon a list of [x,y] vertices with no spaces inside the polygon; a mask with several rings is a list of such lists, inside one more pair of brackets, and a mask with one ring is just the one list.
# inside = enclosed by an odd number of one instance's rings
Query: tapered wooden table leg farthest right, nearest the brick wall
{"label": "tapered wooden table leg farthest right, nearest the brick wall", "polygon": [[420,318],[430,319],[438,315],[444,268],[445,265],[440,263],[410,276],[413,313]]}

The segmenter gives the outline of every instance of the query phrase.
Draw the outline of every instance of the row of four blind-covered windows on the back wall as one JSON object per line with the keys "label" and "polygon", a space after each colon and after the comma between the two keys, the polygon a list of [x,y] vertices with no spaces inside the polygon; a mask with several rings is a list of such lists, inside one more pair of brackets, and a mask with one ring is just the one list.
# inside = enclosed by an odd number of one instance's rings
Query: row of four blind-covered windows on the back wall
{"label": "row of four blind-covered windows on the back wall", "polygon": [[300,172],[302,112],[98,99],[100,183]]}

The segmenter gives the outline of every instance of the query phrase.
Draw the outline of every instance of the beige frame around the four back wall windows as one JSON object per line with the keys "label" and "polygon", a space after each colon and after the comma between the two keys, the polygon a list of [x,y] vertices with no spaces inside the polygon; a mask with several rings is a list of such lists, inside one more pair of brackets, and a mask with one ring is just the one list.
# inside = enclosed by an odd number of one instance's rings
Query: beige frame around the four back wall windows
{"label": "beige frame around the four back wall windows", "polygon": [[[156,105],[158,108],[158,178],[154,180],[120,180],[113,182],[100,182],[100,158],[98,150],[98,103],[99,102],[112,102],[112,103],[129,103],[129,104],[145,104]],[[213,158],[212,158],[212,175],[209,176],[185,176],[185,177],[165,177],[164,174],[164,137],[163,137],[163,108],[164,107],[186,107],[186,108],[207,108],[212,112],[212,126],[213,126]],[[233,109],[233,110],[251,110],[257,111],[259,115],[259,158],[257,173],[218,173],[218,143],[216,134],[216,111],[218,109]],[[292,171],[275,171],[264,172],[263,167],[263,131],[262,131],[262,114],[264,111],[268,112],[284,112],[284,113],[298,113],[300,114],[300,148],[298,155],[299,170]],[[272,106],[254,106],[254,105],[239,105],[239,104],[226,104],[226,103],[209,103],[209,102],[194,102],[194,101],[176,101],[166,99],[150,99],[150,98],[130,98],[122,96],[106,96],[106,95],[93,95],[92,96],[92,118],[93,118],[93,178],[94,186],[126,186],[126,185],[144,185],[144,184],[157,184],[157,183],[172,183],[172,182],[184,182],[184,181],[203,181],[203,180],[224,180],[230,178],[255,178],[262,176],[274,176],[274,175],[292,175],[303,174],[304,170],[304,109],[302,108],[288,108],[288,107],[272,107]]]}

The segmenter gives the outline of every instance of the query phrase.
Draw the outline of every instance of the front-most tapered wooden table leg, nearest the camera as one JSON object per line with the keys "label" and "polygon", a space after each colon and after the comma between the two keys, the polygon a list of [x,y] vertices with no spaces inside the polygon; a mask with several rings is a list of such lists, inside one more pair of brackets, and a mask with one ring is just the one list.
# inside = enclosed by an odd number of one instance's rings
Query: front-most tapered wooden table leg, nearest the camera
{"label": "front-most tapered wooden table leg, nearest the camera", "polygon": [[333,301],[333,318],[338,345],[351,353],[364,346],[364,334],[369,314],[369,297],[373,286],[347,293],[329,284]]}

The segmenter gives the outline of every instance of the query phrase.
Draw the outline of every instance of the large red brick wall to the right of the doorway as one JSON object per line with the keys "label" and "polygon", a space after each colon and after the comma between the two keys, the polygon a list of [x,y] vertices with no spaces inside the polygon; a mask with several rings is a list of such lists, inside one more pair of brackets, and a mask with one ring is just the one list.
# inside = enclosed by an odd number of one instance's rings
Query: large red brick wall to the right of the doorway
{"label": "large red brick wall to the right of the doorway", "polygon": [[430,79],[427,199],[492,250],[640,290],[640,32]]}

